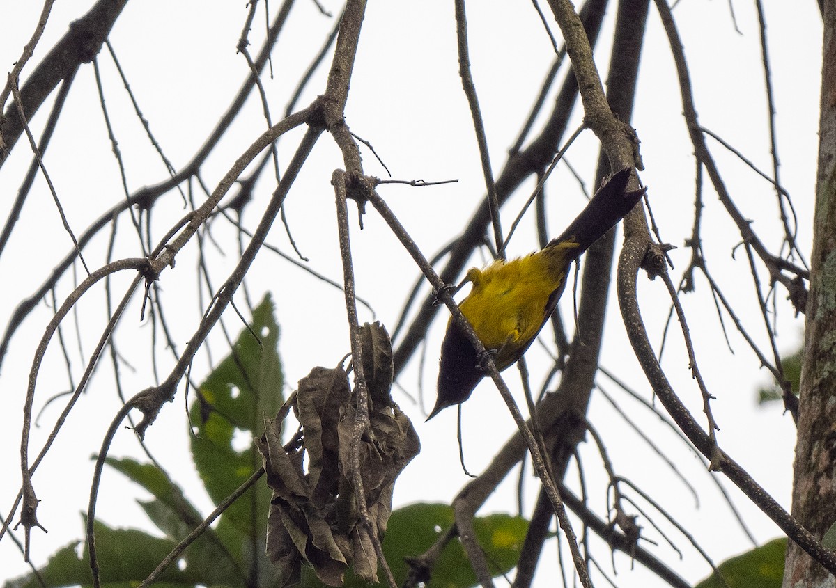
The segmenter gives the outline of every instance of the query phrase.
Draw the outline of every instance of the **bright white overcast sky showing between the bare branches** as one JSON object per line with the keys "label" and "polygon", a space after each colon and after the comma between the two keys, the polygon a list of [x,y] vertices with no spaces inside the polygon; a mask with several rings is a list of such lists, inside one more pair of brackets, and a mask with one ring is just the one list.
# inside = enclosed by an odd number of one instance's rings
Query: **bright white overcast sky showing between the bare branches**
{"label": "bright white overcast sky showing between the bare branches", "polygon": [[[13,67],[37,20],[38,3],[6,3],[4,13],[11,14],[8,32],[0,37],[0,63],[7,71]],[[793,195],[799,217],[799,244],[809,251],[811,215],[813,209],[816,150],[818,147],[818,77],[821,68],[821,18],[816,3],[781,3],[767,0],[768,28],[777,104],[778,155],[781,160],[782,184]],[[48,28],[33,60],[24,69],[23,79],[33,65],[43,57],[44,50],[64,34],[68,24],[87,10],[88,3],[64,0],[56,3]],[[326,7],[337,12],[333,2]],[[278,2],[271,3],[271,10]],[[486,120],[492,163],[498,175],[504,164],[508,147],[517,136],[519,127],[538,92],[539,83],[553,59],[550,43],[533,12],[531,4],[519,0],[514,3],[470,3],[470,46],[473,75],[479,92],[482,112]],[[762,66],[759,58],[757,13],[752,3],[734,3],[737,23],[742,34],[735,32],[729,17],[729,5],[715,0],[683,0],[675,10],[681,26],[691,75],[696,89],[696,107],[701,124],[715,131],[755,161],[760,169],[769,171],[772,164],[767,136],[767,106],[762,89]],[[129,3],[116,23],[111,35],[115,51],[140,101],[145,118],[150,121],[157,139],[174,165],[186,163],[202,143],[207,129],[212,128],[217,116],[226,108],[232,95],[246,76],[246,63],[236,54],[236,43],[246,18],[245,3],[206,3],[183,0],[179,3]],[[611,8],[604,25],[603,42],[596,53],[599,69],[606,72],[609,52],[606,39],[614,21]],[[253,28],[252,51],[257,52],[263,37],[263,13],[259,13]],[[273,53],[275,78],[265,78],[265,85],[273,112],[273,119],[281,116],[298,75],[307,68],[310,58],[319,51],[333,20],[319,14],[313,3],[299,2],[293,8],[288,28],[282,33]],[[555,28],[556,30],[556,28]],[[384,187],[380,191],[400,220],[429,256],[461,230],[483,194],[482,173],[472,134],[472,124],[466,110],[466,99],[461,93],[456,61],[455,27],[452,3],[430,0],[421,3],[373,0],[364,20],[357,65],[351,84],[346,112],[351,129],[370,140],[375,150],[389,165],[397,179],[448,180],[457,178],[455,185],[423,188]],[[104,75],[104,91],[111,119],[115,121],[120,149],[128,162],[128,185],[136,190],[166,178],[166,170],[155,159],[142,129],[127,103],[115,68],[105,53],[99,61]],[[299,104],[307,104],[324,89],[325,67]],[[288,80],[290,82],[288,83]],[[59,124],[50,145],[46,163],[55,185],[62,196],[64,208],[75,231],[79,233],[110,206],[124,198],[119,173],[110,155],[110,143],[104,129],[96,98],[92,67],[81,69],[70,94],[67,112]],[[48,109],[38,112],[33,130],[38,135]],[[579,123],[579,117],[573,124]],[[642,180],[650,186],[650,202],[661,227],[662,236],[680,248],[671,252],[675,263],[674,277],[678,281],[690,259],[690,250],[683,247],[690,235],[693,198],[694,164],[692,147],[687,140],[681,119],[681,101],[675,86],[675,72],[655,8],[650,8],[648,40],[640,68],[633,124],[642,141],[645,162]],[[227,134],[222,145],[203,167],[203,179],[209,186],[226,173],[243,149],[264,128],[261,107],[251,100],[247,109]],[[573,126],[570,125],[570,131]],[[287,162],[293,152],[298,134],[283,139],[280,144],[282,161]],[[16,194],[20,178],[28,166],[28,150],[21,139],[13,157],[0,172],[0,216],[5,218]],[[729,155],[712,139],[708,140],[712,153],[719,162],[727,185],[744,215],[755,220],[755,228],[764,231],[764,241],[777,252],[780,242],[779,223],[774,194],[767,182],[761,180],[734,156]],[[591,133],[584,134],[573,146],[569,160],[591,184],[597,140]],[[334,279],[339,279],[339,249],[336,244],[334,195],[329,185],[331,171],[339,167],[339,153],[329,136],[324,135],[312,159],[298,180],[287,202],[288,219],[293,236],[310,265]],[[364,151],[366,173],[384,175],[385,172],[368,151]],[[267,176],[269,178],[269,175]],[[263,182],[259,200],[248,210],[245,220],[255,226],[270,191],[270,182]],[[533,182],[519,190],[503,209],[503,222],[510,226],[522,201],[533,189]],[[551,180],[549,219],[553,231],[559,231],[583,205],[577,185],[568,170],[558,165]],[[201,195],[196,193],[200,200]],[[155,214],[158,235],[182,215],[180,196],[172,192]],[[752,304],[752,279],[746,256],[738,251],[732,258],[732,248],[740,241],[732,223],[726,219],[716,196],[706,192],[704,246],[714,275],[726,284],[725,293],[737,305],[737,312],[750,332],[762,344],[762,321]],[[558,207],[564,210],[557,213]],[[385,224],[370,213],[364,218],[365,229],[351,227],[357,290],[375,307],[376,318],[390,328],[400,313],[401,301],[410,290],[417,272],[409,256],[390,235]],[[351,215],[354,221],[356,215]],[[122,228],[130,233],[123,221]],[[23,210],[18,234],[8,251],[0,257],[5,276],[3,304],[0,305],[0,324],[5,325],[18,300],[28,296],[52,267],[69,251],[69,240],[60,226],[58,215],[43,181],[38,180],[33,195]],[[26,227],[25,229],[23,227]],[[512,242],[512,255],[532,251],[535,245],[532,223],[523,224]],[[129,235],[130,236],[130,235]],[[229,238],[232,232],[217,227],[217,238]],[[105,233],[89,246],[88,262],[99,265],[104,260]],[[288,253],[286,236],[276,226],[268,241]],[[120,255],[135,256],[137,251],[125,239]],[[212,270],[216,286],[236,261],[235,248],[227,241],[227,256],[214,255]],[[211,247],[211,246],[210,246]],[[166,302],[171,305],[170,319],[181,344],[190,337],[203,311],[195,299],[193,277],[195,246],[187,247],[174,271],[166,271],[161,281]],[[481,263],[476,260],[475,263]],[[765,271],[762,271],[762,276]],[[332,366],[348,351],[345,336],[343,295],[322,286],[303,271],[263,251],[250,272],[249,287],[258,299],[263,291],[272,291],[278,307],[278,322],[283,333],[280,351],[288,386],[293,388],[298,378],[315,365]],[[66,296],[69,281],[62,283],[59,296]],[[778,292],[778,325],[782,352],[798,347],[803,329],[803,317],[794,318],[785,293]],[[206,301],[204,296],[203,301]],[[604,339],[602,364],[650,398],[645,378],[633,357],[630,345],[620,324],[614,292],[611,294],[608,331]],[[656,345],[661,340],[668,312],[664,286],[660,281],[649,282],[640,276],[640,303],[645,322]],[[98,337],[97,328],[103,324],[103,298],[92,294],[82,302],[79,310],[84,317],[84,352],[89,352]],[[703,376],[717,399],[713,403],[716,419],[721,426],[721,446],[742,463],[776,499],[788,507],[792,482],[794,426],[781,408],[759,409],[754,398],[758,386],[767,383],[767,373],[758,368],[757,359],[737,333],[730,335],[735,354],[729,354],[721,336],[706,281],[698,280],[698,291],[684,298],[691,333],[696,341],[696,355]],[[571,317],[571,297],[563,301],[566,317]],[[19,418],[23,403],[28,366],[34,347],[48,321],[50,311],[44,305],[24,324],[13,340],[13,348],[4,360],[0,372],[0,431],[3,448],[0,452],[0,471],[8,476],[0,479],[0,512],[8,514],[8,507],[18,488]],[[122,351],[130,357],[137,372],[125,374],[129,388],[135,393],[154,383],[150,362],[143,353],[150,329],[141,327],[136,318],[138,300],[129,311],[123,334],[118,341]],[[361,320],[371,320],[370,313],[360,309]],[[232,332],[240,328],[230,313],[227,324]],[[729,324],[729,322],[726,322]],[[429,408],[435,396],[438,345],[444,321],[437,321],[431,329],[423,366],[424,407]],[[68,330],[70,332],[70,330]],[[214,356],[222,356],[220,337],[212,339]],[[132,348],[132,342],[139,342]],[[542,367],[538,356],[544,357],[534,346],[529,366]],[[171,357],[161,352],[167,373]],[[200,355],[205,369],[206,356]],[[417,394],[417,375],[421,366],[415,360],[400,379],[411,394]],[[75,352],[72,358],[74,378],[78,378],[84,361]],[[681,337],[671,331],[665,351],[664,366],[670,370],[675,390],[695,414],[701,403],[696,386],[687,371],[687,357]],[[107,364],[105,364],[107,365]],[[196,367],[196,373],[197,371]],[[519,393],[515,370],[507,372],[507,382]],[[533,377],[538,382],[539,376]],[[196,379],[201,379],[196,376]],[[619,393],[614,384],[601,377],[601,382],[618,399],[645,433],[669,450],[683,474],[700,489],[701,507],[695,508],[687,489],[674,478],[664,464],[643,444],[640,438],[624,426],[623,420],[600,397],[594,397],[590,420],[604,436],[609,457],[620,474],[635,480],[655,496],[666,509],[683,522],[712,558],[719,562],[729,555],[748,549],[745,536],[730,522],[725,506],[717,506],[719,494],[701,464],[693,455],[677,444],[658,418],[642,412],[635,403]],[[48,354],[43,375],[38,385],[38,408],[52,394],[67,387],[66,370],[58,348]],[[130,388],[133,387],[133,388]],[[517,396],[519,398],[519,396]],[[395,399],[410,413],[421,436],[422,452],[405,470],[396,487],[395,506],[416,500],[449,501],[466,483],[458,464],[455,435],[455,410],[449,410],[431,423],[422,423],[424,412],[403,394]],[[59,404],[51,405],[43,414],[43,421],[51,423],[59,413]],[[69,418],[59,443],[51,457],[38,469],[34,482],[38,498],[43,502],[38,517],[50,531],[48,535],[34,534],[33,559],[42,562],[61,545],[80,538],[83,534],[79,512],[86,509],[89,493],[90,454],[98,451],[104,429],[117,408],[110,367],[103,367],[94,377],[89,393]],[[150,429],[147,442],[156,450],[171,472],[176,473],[189,497],[201,508],[209,509],[208,499],[202,494],[196,474],[191,470],[187,454],[183,398],[167,405],[161,418]],[[699,417],[698,417],[699,418]],[[33,433],[30,454],[40,447],[44,429]],[[478,472],[512,431],[502,401],[491,386],[483,383],[466,404],[464,437],[469,469]],[[182,449],[181,449],[182,448]],[[112,454],[137,455],[133,435],[125,430],[116,439]],[[591,503],[603,512],[604,474],[593,444],[582,445],[584,470],[589,477]],[[439,475],[441,473],[441,475]],[[570,474],[568,479],[576,479]],[[513,511],[516,507],[516,477],[509,479],[493,494],[483,512]],[[777,527],[748,503],[732,484],[726,484],[736,504],[746,515],[748,525],[761,542],[779,534]],[[533,504],[533,489],[529,484],[527,507]],[[106,474],[99,499],[99,516],[112,525],[147,526],[144,515],[135,506],[141,493],[126,484],[118,475]],[[17,517],[16,517],[17,518]],[[661,520],[656,515],[656,520]],[[685,552],[682,561],[675,551],[664,545],[664,540],[650,525],[647,536],[660,542],[654,548],[662,559],[689,581],[701,580],[709,573],[687,541],[676,535],[677,545]],[[604,569],[609,569],[609,557],[599,545],[599,558]],[[630,571],[630,562],[623,555],[615,558],[619,586],[654,585],[653,577],[640,565]],[[544,562],[543,570],[553,570]],[[0,580],[26,570],[11,541],[0,543]],[[609,570],[611,574],[612,570]],[[551,585],[548,571],[538,585]],[[658,581],[658,580],[657,580]],[[605,580],[599,579],[599,585]]]}

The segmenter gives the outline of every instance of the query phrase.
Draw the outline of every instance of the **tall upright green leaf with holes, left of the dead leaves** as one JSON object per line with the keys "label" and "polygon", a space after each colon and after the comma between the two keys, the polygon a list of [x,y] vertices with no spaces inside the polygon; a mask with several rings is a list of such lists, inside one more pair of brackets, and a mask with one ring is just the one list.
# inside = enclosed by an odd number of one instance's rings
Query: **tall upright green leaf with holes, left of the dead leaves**
{"label": "tall upright green leaf with holes, left of the dead leaves", "polygon": [[[191,452],[206,491],[221,502],[260,466],[250,439],[263,433],[264,419],[274,418],[283,403],[282,366],[278,358],[278,324],[273,302],[264,297],[252,313],[251,329],[243,329],[232,352],[201,384],[191,404],[195,435]],[[233,447],[233,438],[247,441]],[[217,535],[238,557],[246,550],[263,552],[271,492],[260,480],[222,515]],[[252,545],[258,538],[261,546]]]}

